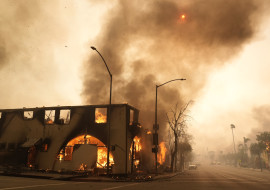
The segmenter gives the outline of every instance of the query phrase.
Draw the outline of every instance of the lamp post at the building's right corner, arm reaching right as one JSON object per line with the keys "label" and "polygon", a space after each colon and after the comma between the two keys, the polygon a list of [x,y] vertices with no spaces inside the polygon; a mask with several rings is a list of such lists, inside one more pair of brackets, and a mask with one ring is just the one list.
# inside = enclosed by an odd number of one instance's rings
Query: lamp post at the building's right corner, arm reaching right
{"label": "lamp post at the building's right corner, arm reaching right", "polygon": [[157,124],[157,89],[165,84],[168,84],[170,82],[173,82],[173,81],[177,81],[177,80],[186,80],[186,79],[174,79],[174,80],[170,80],[170,81],[167,81],[163,84],[160,84],[160,85],[156,85],[156,102],[155,102],[155,124],[154,124],[154,130],[155,130],[155,133],[153,134],[153,140],[154,140],[154,145],[155,145],[155,169],[156,169],[156,175],[157,175],[157,153],[158,153],[158,124]]}

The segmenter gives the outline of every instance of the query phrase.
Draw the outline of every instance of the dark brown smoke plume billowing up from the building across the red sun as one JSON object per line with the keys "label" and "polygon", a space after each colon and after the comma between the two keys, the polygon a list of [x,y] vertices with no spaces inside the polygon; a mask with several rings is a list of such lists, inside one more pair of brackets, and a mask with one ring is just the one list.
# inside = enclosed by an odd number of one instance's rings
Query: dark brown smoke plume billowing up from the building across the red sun
{"label": "dark brown smoke plume billowing up from the building across the red sun", "polygon": [[[140,109],[140,121],[150,128],[155,85],[187,78],[159,89],[159,123],[164,126],[170,107],[194,98],[209,70],[236,56],[252,40],[262,4],[255,0],[118,1],[97,42],[91,44],[113,75],[112,102],[128,102]],[[108,103],[109,75],[102,60],[92,52],[85,65],[85,102]]]}

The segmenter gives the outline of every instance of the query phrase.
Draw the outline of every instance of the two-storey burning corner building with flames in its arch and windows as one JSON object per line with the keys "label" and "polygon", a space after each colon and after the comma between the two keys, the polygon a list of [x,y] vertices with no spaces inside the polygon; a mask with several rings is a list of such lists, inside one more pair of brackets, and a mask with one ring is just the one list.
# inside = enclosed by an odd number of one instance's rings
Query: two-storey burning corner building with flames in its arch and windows
{"label": "two-storey burning corner building with flames in its arch and windows", "polygon": [[0,162],[53,171],[106,168],[110,139],[111,173],[131,173],[139,162],[134,156],[140,149],[139,110],[128,104],[113,104],[111,117],[107,117],[109,108],[86,105],[1,109]]}

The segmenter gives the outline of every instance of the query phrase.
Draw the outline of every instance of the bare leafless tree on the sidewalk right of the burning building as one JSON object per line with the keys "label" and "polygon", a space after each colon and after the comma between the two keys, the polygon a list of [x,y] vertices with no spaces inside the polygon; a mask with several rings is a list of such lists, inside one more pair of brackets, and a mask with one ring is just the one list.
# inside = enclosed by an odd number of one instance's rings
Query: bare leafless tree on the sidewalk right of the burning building
{"label": "bare leafless tree on the sidewalk right of the burning building", "polygon": [[[179,107],[178,104],[175,105],[174,109],[171,109],[170,112],[166,114],[167,122],[169,124],[169,135],[172,133],[172,145],[171,149],[171,172],[173,172],[174,168],[176,169],[177,163],[177,155],[178,150],[191,151],[191,146],[188,142],[188,136],[186,134],[186,122],[188,115],[186,114],[187,108],[191,102],[188,102],[184,107]],[[170,138],[171,140],[171,138]],[[184,143],[184,144],[182,144]],[[188,149],[184,148],[189,145]],[[180,146],[181,145],[181,146]],[[183,151],[184,152],[184,151]],[[183,156],[183,155],[182,155]]]}

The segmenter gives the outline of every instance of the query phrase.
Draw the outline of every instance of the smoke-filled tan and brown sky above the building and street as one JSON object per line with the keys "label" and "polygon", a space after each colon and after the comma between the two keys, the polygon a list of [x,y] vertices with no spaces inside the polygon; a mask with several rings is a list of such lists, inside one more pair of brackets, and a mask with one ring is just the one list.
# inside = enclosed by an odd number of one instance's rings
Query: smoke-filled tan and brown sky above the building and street
{"label": "smoke-filled tan and brown sky above the building and street", "polygon": [[268,12],[267,0],[2,0],[0,109],[107,104],[95,46],[113,103],[151,129],[155,85],[186,78],[158,89],[160,133],[192,100],[194,149],[230,152],[231,124],[236,143],[269,130]]}

